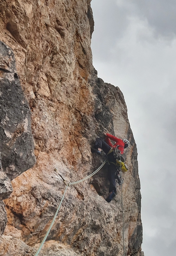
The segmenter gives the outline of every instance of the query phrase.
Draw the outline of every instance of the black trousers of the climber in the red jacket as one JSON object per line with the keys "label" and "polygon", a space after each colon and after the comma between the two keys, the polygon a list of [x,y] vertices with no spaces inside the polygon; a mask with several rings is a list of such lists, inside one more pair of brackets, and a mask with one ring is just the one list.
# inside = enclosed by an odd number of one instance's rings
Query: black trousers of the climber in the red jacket
{"label": "black trousers of the climber in the red jacket", "polygon": [[[102,138],[97,138],[95,141],[95,149],[102,149],[104,153],[108,153],[111,149],[111,146],[109,146]],[[113,152],[107,155],[109,165],[108,165],[108,180],[110,182],[109,184],[109,193],[114,190],[116,192],[116,185],[115,185],[115,173],[117,170],[117,166],[113,163],[116,163],[116,159],[113,156]],[[113,163],[112,163],[113,162]]]}

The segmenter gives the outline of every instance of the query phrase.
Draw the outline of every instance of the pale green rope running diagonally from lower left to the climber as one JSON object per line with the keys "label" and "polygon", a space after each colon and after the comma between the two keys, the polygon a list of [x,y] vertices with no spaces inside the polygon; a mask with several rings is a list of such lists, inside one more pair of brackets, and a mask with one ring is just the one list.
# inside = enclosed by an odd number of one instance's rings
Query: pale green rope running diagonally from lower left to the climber
{"label": "pale green rope running diagonally from lower left to the climber", "polygon": [[64,196],[65,196],[65,192],[66,192],[68,186],[74,185],[74,184],[78,184],[78,183],[80,183],[80,182],[82,182],[82,181],[86,181],[88,178],[90,178],[90,177],[92,177],[94,174],[96,174],[96,173],[105,165],[106,161],[107,161],[107,159],[104,160],[104,162],[102,163],[102,165],[100,165],[100,167],[98,167],[97,170],[95,170],[92,174],[90,174],[90,175],[87,176],[86,178],[83,178],[82,180],[75,181],[75,182],[72,182],[72,183],[66,184],[65,180],[63,179],[63,177],[59,174],[59,176],[61,176],[62,180],[64,181],[65,185],[67,185],[67,186],[66,186],[65,191],[64,191],[64,193],[63,193],[63,197],[62,197],[62,199],[61,199],[61,202],[60,202],[60,204],[59,204],[59,206],[58,206],[58,208],[57,208],[57,210],[56,210],[56,213],[55,213],[55,215],[54,215],[54,217],[53,217],[53,219],[52,219],[52,222],[51,222],[51,224],[50,224],[50,227],[49,227],[49,229],[48,229],[46,235],[44,236],[44,238],[43,238],[43,240],[42,240],[42,242],[41,242],[41,245],[38,247],[38,250],[36,251],[36,253],[35,253],[34,256],[37,256],[37,255],[38,255],[38,253],[39,253],[39,251],[41,250],[41,248],[42,248],[42,246],[43,246],[43,244],[44,244],[44,242],[45,242],[45,240],[46,240],[48,234],[50,233],[50,230],[51,230],[52,225],[54,224],[54,221],[55,221],[55,219],[56,219],[56,216],[57,216],[57,214],[58,214],[58,212],[59,212],[59,209],[60,209],[60,207],[61,207],[61,203],[62,203],[62,201],[63,201],[63,198],[64,198]]}

